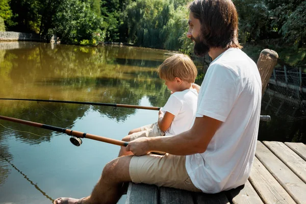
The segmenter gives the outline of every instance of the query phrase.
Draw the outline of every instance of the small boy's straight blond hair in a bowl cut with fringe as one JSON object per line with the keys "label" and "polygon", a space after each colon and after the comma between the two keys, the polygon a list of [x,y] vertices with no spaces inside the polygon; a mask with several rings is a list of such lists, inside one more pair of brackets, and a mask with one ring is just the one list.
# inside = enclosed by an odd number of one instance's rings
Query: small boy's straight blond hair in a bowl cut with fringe
{"label": "small boy's straight blond hair in a bowl cut with fringe", "polygon": [[188,83],[194,83],[197,69],[189,56],[171,54],[158,68],[161,79],[173,81],[176,77]]}

